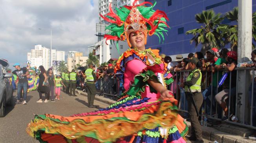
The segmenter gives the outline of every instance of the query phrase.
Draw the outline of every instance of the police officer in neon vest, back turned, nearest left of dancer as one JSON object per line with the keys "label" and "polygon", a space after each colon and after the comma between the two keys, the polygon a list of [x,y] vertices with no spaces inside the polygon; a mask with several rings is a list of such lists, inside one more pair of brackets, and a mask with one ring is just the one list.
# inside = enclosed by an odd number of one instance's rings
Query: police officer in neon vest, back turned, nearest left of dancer
{"label": "police officer in neon vest, back turned, nearest left of dancer", "polygon": [[96,75],[91,68],[88,68],[85,71],[85,75],[86,75],[86,83],[88,86],[88,92],[87,92],[88,104],[89,104],[89,107],[91,107],[93,106],[94,98],[96,95],[96,88],[94,84],[96,80]]}

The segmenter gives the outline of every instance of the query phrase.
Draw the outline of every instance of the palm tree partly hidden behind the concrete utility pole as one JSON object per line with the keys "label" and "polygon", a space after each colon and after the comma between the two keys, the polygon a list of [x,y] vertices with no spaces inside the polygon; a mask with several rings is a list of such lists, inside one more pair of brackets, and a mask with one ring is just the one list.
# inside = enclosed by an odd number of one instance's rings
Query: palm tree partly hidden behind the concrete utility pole
{"label": "palm tree partly hidden behind the concrete utility pole", "polygon": [[[225,18],[229,21],[238,22],[238,7],[234,7],[232,11],[225,14]],[[218,32],[221,33],[225,39],[225,43],[230,43],[230,48],[237,51],[238,46],[238,25],[221,25],[217,28]],[[256,12],[252,14],[252,38],[256,41]],[[255,45],[252,43],[252,47]]]}

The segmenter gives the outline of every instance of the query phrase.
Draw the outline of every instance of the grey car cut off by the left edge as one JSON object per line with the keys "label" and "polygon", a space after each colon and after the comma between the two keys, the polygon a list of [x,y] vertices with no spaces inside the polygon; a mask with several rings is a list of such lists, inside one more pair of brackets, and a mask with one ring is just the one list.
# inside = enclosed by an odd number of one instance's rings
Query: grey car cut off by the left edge
{"label": "grey car cut off by the left edge", "polygon": [[0,59],[0,117],[5,116],[6,105],[13,102],[13,86],[10,80],[13,74],[6,72],[8,66],[8,61]]}

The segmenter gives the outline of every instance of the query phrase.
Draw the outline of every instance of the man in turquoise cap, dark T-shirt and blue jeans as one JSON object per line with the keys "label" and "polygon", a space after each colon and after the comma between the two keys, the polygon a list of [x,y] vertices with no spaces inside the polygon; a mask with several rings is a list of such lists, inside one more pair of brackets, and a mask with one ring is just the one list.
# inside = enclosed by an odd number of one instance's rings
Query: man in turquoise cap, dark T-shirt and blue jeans
{"label": "man in turquoise cap, dark T-shirt and blue jeans", "polygon": [[13,74],[17,75],[18,80],[16,80],[16,82],[18,81],[18,99],[16,104],[21,104],[20,102],[20,97],[22,94],[22,89],[23,89],[23,103],[22,104],[27,104],[26,99],[27,99],[27,87],[28,87],[28,81],[27,81],[27,75],[29,75],[29,72],[27,71],[26,68],[20,68],[20,64],[16,63],[13,65],[16,70],[13,71]]}

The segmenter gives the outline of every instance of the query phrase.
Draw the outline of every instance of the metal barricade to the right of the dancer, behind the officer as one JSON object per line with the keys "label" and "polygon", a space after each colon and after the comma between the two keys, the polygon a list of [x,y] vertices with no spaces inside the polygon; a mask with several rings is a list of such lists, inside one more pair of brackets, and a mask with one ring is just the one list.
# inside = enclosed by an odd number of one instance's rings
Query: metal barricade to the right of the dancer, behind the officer
{"label": "metal barricade to the right of the dancer, behind the officer", "polygon": [[[230,118],[228,118],[227,123],[230,123],[230,124],[234,124],[234,125],[240,125],[240,126],[243,126],[243,127],[247,127],[247,128],[250,128],[250,129],[256,129],[256,126],[252,125],[252,123],[254,122],[254,120],[256,120],[256,116],[254,115],[253,111],[256,110],[256,107],[255,107],[255,104],[256,103],[253,103],[255,102],[254,100],[254,70],[255,68],[235,68],[234,69],[236,71],[236,94],[235,95],[231,95],[231,81],[234,82],[233,80],[234,79],[231,79],[233,76],[232,76],[232,72],[229,72],[229,79],[225,79],[225,80],[229,80],[229,95],[228,95],[228,98],[226,100],[226,105],[228,107],[228,117],[230,117],[230,115],[233,115],[235,116],[235,120],[232,121],[230,120]],[[180,90],[180,87],[179,87],[179,83],[180,82],[183,82],[183,75],[185,74],[185,72],[190,72],[190,70],[183,70],[183,71],[177,71],[177,72],[174,72],[173,73],[173,76],[176,75],[176,79],[174,80],[174,82],[172,84],[170,84],[167,88],[174,91],[174,95],[175,95],[175,98],[177,99],[177,94],[180,94],[181,95],[181,92],[179,92]],[[211,86],[211,89],[210,89],[210,96],[207,97],[207,99],[210,100],[210,105],[207,104],[206,100],[204,99],[204,107],[205,107],[205,110],[206,110],[206,113],[209,113],[207,114],[207,118],[209,119],[214,119],[214,120],[221,120],[220,117],[223,116],[223,109],[220,107],[220,105],[215,101],[215,94],[214,94],[214,88],[213,88],[213,77],[215,76],[217,78],[217,83],[216,83],[216,95],[221,91],[220,89],[221,88],[218,88],[218,82],[219,82],[219,77],[222,77],[222,75],[220,75],[220,72],[219,71],[216,71],[216,73],[212,73],[211,71],[210,72],[205,72],[205,71],[201,71],[202,72],[202,76],[204,76],[204,79],[206,80],[206,84],[209,82],[210,86]],[[224,70],[221,70],[221,72],[224,72]],[[238,93],[238,89],[239,87],[242,85],[244,86],[243,88],[246,88],[247,87],[247,84],[250,84],[250,83],[239,83],[240,79],[239,79],[239,74],[241,74],[241,72],[244,72],[243,75],[246,75],[247,77],[249,76],[249,78],[251,78],[251,87],[250,87],[250,92],[251,93],[247,93],[244,97],[241,97],[241,93]],[[248,73],[251,73],[250,75],[248,75]],[[209,75],[211,74],[211,75]],[[216,75],[214,75],[216,74]],[[178,76],[179,75],[179,76]],[[178,78],[179,77],[179,78]],[[210,77],[210,78],[209,78]],[[246,78],[246,77],[244,77]],[[207,81],[208,79],[211,79],[211,81]],[[203,80],[203,78],[202,78]],[[203,81],[202,81],[203,83]],[[208,89],[209,86],[206,86],[206,89]],[[202,89],[202,93],[203,91],[205,91]],[[255,91],[256,93],[256,91]],[[251,97],[251,98],[250,98]],[[243,100],[241,100],[241,98],[244,98]],[[248,100],[249,99],[249,100]],[[188,111],[185,109],[185,98],[182,99],[183,101],[179,100],[179,111],[182,111],[184,113],[188,113]],[[248,102],[247,102],[248,100]],[[183,102],[183,104],[181,105],[181,103]],[[209,106],[210,108],[210,111],[207,111],[207,106]],[[215,107],[214,107],[215,106]],[[220,110],[221,109],[221,110]],[[238,111],[240,111],[240,113],[238,113]],[[248,112],[248,114],[247,114]],[[256,112],[256,111],[255,111]],[[237,117],[239,116],[239,118],[237,119]],[[219,118],[218,118],[219,117]],[[248,120],[246,120],[246,118],[249,117]]]}

